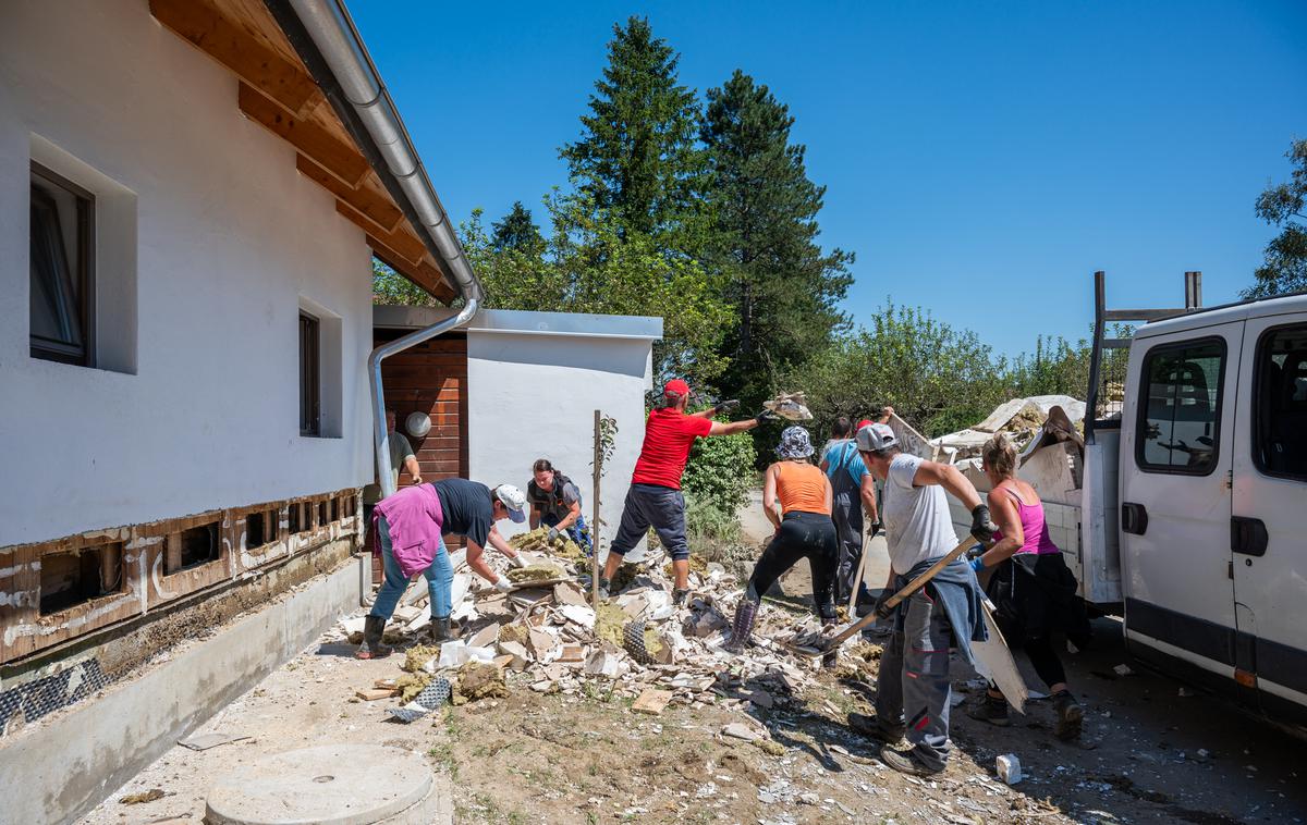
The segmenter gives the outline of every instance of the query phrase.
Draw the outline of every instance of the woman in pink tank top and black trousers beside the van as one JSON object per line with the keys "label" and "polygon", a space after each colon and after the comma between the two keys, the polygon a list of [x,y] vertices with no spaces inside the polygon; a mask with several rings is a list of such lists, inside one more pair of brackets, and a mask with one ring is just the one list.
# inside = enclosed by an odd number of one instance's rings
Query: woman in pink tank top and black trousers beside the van
{"label": "woman in pink tank top and black trousers beside the van", "polygon": [[[1084,647],[1089,641],[1089,621],[1076,598],[1076,577],[1061,551],[1048,535],[1044,505],[1039,493],[1017,478],[1017,450],[1002,435],[985,443],[982,467],[989,478],[989,512],[999,531],[997,543],[974,559],[976,574],[989,574],[985,593],[996,606],[995,619],[1013,647],[1022,647],[1035,672],[1048,685],[1057,722],[1059,739],[1080,736],[1085,717],[1067,685],[1067,671],[1052,645],[1057,630]],[[995,685],[985,698],[967,711],[974,719],[993,724],[1008,723],[1008,702]]]}

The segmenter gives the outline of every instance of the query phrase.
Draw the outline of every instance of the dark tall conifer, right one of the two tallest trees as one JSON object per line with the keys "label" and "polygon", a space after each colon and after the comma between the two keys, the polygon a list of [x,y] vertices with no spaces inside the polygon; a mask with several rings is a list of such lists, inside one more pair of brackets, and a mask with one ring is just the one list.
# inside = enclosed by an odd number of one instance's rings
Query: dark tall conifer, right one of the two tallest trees
{"label": "dark tall conifer, right one of the two tallest trees", "polygon": [[738,69],[707,97],[708,261],[723,273],[735,311],[721,349],[732,366],[719,384],[757,403],[776,376],[847,325],[835,304],[853,281],[853,256],[817,244],[826,189],[808,179],[805,148],[789,142],[789,108]]}

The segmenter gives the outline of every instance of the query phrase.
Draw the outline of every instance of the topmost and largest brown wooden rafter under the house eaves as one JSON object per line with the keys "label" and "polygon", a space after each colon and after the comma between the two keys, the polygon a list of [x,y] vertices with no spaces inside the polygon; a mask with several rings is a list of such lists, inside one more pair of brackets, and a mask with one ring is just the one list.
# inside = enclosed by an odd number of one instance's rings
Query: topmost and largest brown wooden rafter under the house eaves
{"label": "topmost and largest brown wooden rafter under the house eaves", "polygon": [[295,115],[323,99],[308,72],[252,38],[207,0],[150,0],[150,14]]}

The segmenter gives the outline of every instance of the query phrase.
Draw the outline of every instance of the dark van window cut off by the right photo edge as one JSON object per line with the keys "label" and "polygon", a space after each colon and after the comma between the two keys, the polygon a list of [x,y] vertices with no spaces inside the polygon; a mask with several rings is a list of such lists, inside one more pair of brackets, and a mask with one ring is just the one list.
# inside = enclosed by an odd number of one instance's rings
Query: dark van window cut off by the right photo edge
{"label": "dark van window cut off by the right photo edge", "polygon": [[1307,480],[1307,324],[1268,329],[1257,342],[1252,422],[1257,469]]}

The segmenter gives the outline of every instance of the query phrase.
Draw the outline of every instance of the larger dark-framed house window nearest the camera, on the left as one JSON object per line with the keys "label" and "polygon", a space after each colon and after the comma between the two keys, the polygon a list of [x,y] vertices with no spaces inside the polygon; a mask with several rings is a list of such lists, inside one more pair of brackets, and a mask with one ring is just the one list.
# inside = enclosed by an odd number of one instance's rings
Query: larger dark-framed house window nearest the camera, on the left
{"label": "larger dark-framed house window nearest the camera, on the left", "polygon": [[95,197],[31,164],[31,356],[94,366]]}

